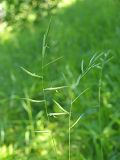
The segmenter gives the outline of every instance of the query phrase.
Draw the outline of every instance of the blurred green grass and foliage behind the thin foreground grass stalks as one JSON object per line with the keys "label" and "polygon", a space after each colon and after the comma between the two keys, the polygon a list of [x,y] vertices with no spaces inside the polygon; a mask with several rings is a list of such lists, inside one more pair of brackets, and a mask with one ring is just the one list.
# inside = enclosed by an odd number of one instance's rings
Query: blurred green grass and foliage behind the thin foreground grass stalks
{"label": "blurred green grass and foliage behind the thin foreground grass stalks", "polygon": [[[42,103],[42,82],[20,67],[41,75],[42,41],[50,18],[44,64],[45,87],[71,85],[91,57],[113,57],[103,69],[101,135],[98,112],[85,116],[71,131],[71,160],[120,160],[120,1],[1,0],[0,1],[0,159],[67,160],[68,117],[50,117]],[[75,90],[46,93],[49,112],[59,112],[53,99],[69,110],[71,97],[89,90],[74,103],[72,122],[98,105],[99,69],[91,70]],[[51,130],[56,149],[49,133]],[[57,154],[57,158],[56,158]]]}

